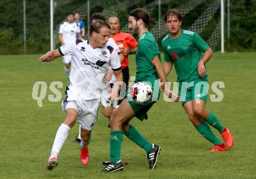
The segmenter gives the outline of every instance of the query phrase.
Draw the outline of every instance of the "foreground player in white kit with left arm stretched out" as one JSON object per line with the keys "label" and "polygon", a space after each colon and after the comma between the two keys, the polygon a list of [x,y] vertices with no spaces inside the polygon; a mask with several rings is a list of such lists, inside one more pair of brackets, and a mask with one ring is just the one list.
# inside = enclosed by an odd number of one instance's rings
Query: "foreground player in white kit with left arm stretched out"
{"label": "foreground player in white kit with left arm stretched out", "polygon": [[[69,42],[59,49],[45,53],[40,58],[41,62],[48,62],[63,55],[72,55],[70,85],[66,88],[66,98],[63,101],[66,119],[56,133],[47,163],[48,170],[58,165],[58,154],[76,121],[81,124],[80,148],[83,150],[87,148],[91,131],[97,120],[98,106],[109,67],[113,70],[116,81],[122,83],[118,53],[108,43],[109,28],[109,25],[102,20],[91,23],[90,40]],[[120,83],[114,85],[109,99],[117,98]]]}

